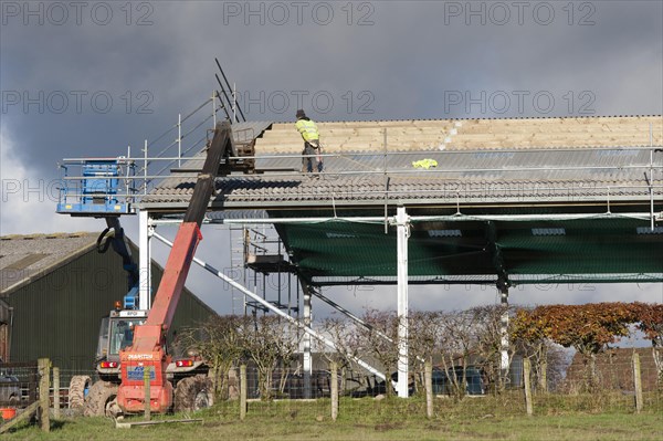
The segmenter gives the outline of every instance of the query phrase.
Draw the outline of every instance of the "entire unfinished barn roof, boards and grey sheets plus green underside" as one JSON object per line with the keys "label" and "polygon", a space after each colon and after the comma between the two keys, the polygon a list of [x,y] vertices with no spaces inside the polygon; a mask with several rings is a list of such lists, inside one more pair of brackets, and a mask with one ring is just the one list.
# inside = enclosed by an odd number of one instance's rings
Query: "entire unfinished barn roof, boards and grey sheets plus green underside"
{"label": "entire unfinished barn roof, boards and grey sheets plus green underside", "polygon": [[[399,206],[410,283],[663,280],[660,115],[319,123],[317,177],[301,172],[292,123],[263,126],[256,172],[219,177],[209,219],[265,210],[309,283],[393,283]],[[201,165],[172,170],[140,208],[178,217]]]}

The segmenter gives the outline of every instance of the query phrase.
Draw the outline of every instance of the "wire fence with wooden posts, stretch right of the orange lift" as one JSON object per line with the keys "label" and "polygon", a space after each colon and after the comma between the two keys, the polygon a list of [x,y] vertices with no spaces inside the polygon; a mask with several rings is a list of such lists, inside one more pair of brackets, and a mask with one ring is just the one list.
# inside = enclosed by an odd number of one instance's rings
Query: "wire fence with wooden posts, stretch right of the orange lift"
{"label": "wire fence with wooden posts, stretch right of the orange lift", "polygon": [[[400,399],[396,398],[392,386],[375,376],[339,369],[336,410],[332,370],[314,370],[307,388],[301,369],[274,369],[265,376],[249,367],[244,405],[240,392],[240,369],[233,368],[227,389],[217,401],[217,414],[228,420],[243,418],[242,407],[245,406],[249,418],[326,420],[336,412],[339,419],[375,423],[377,420],[397,422],[408,418],[453,420],[663,411],[661,372],[649,360],[640,360],[638,368],[634,366],[633,359],[599,364],[596,378],[591,378],[587,366],[572,364],[567,376],[555,384],[545,385],[540,378],[529,374],[529,388],[525,387],[527,381],[524,377],[499,386],[483,372],[472,369],[467,369],[463,377],[457,370],[433,367],[428,399],[425,371],[410,372],[410,397]],[[520,374],[524,375],[523,371]]]}

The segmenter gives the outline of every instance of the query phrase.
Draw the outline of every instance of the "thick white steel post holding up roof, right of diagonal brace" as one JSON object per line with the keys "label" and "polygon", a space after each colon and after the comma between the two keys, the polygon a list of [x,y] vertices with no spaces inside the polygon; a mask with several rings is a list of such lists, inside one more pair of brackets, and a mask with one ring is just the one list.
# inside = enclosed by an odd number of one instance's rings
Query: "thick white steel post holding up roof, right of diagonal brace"
{"label": "thick white steel post holding up roof, right of diagonal brace", "polygon": [[[396,212],[398,248],[398,385],[401,398],[408,397],[408,238],[410,220],[404,207]],[[389,372],[387,372],[389,374]]]}

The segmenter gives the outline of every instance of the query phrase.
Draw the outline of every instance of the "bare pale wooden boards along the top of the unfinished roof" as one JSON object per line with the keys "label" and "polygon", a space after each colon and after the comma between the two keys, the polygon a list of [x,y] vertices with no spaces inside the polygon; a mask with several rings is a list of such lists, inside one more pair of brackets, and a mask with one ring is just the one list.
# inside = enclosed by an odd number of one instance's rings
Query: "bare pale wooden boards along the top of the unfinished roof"
{"label": "bare pale wooden boards along the top of the unfinished roof", "polygon": [[[663,117],[551,117],[504,119],[423,119],[378,122],[319,122],[320,141],[328,153],[385,149],[498,149],[610,147],[663,144]],[[257,139],[256,153],[295,153],[302,139],[293,123],[276,123]]]}

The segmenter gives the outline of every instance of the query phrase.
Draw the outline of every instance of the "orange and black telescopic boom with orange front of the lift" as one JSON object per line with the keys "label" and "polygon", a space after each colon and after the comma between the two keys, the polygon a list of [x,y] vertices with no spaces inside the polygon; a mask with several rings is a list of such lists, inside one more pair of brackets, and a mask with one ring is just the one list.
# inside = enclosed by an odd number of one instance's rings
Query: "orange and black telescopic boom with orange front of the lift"
{"label": "orange and black telescopic boom with orange front of the lift", "polygon": [[214,191],[214,179],[224,153],[233,149],[229,122],[214,128],[202,172],[198,176],[193,195],[179,227],[164,276],[155,296],[152,307],[144,325],[136,326],[133,346],[120,350],[122,385],[117,403],[124,412],[140,412],[145,409],[144,371],[150,367],[150,409],[166,412],[172,405],[172,385],[166,379],[170,356],[165,351],[166,334],[189,273],[196,248],[202,239],[200,225]]}

